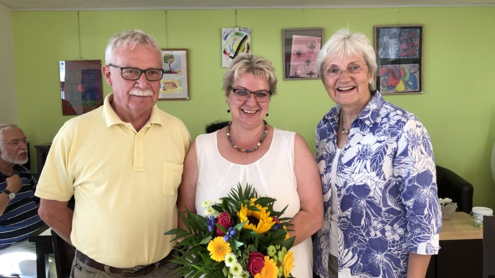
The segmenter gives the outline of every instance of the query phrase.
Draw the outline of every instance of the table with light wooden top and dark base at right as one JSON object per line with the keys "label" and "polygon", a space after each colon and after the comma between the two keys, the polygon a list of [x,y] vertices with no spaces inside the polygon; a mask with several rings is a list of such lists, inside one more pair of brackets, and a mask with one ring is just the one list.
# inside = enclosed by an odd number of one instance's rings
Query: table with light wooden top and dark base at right
{"label": "table with light wooden top and dark base at right", "polygon": [[427,278],[480,278],[483,267],[483,228],[465,212],[443,220],[440,251],[431,257]]}

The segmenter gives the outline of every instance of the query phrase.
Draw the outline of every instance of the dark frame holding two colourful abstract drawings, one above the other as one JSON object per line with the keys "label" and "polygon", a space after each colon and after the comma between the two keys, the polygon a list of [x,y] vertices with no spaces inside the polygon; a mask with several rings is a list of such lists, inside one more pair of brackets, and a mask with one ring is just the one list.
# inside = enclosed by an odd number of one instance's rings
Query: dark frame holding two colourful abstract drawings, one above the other
{"label": "dark frame holding two colourful abstract drawings, one above the other", "polygon": [[382,94],[423,93],[423,25],[375,26],[377,89]]}

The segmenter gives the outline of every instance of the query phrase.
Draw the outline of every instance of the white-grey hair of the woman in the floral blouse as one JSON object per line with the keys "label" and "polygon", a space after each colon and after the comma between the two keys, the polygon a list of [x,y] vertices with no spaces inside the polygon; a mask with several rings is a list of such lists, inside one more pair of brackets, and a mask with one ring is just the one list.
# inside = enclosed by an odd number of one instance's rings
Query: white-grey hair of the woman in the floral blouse
{"label": "white-grey hair of the woman in the floral blouse", "polygon": [[[325,61],[328,58],[344,57],[352,55],[362,55],[366,64],[368,64],[368,70],[375,76],[377,72],[377,56],[375,49],[369,41],[368,37],[363,33],[351,34],[349,29],[340,29],[330,37],[330,39],[321,47],[318,52],[318,58],[316,58],[316,65],[318,67],[318,74],[321,77],[321,81],[325,82],[325,75],[323,74],[323,68],[325,67]],[[375,82],[369,84],[369,92],[375,93]]]}

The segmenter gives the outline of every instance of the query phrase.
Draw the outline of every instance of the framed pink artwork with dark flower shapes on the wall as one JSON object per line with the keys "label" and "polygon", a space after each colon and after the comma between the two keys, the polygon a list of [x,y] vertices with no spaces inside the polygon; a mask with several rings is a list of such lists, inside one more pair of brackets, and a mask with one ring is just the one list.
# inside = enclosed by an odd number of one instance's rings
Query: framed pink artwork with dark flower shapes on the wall
{"label": "framed pink artwork with dark flower shapes on the wall", "polygon": [[283,29],[284,80],[319,79],[316,57],[323,28]]}

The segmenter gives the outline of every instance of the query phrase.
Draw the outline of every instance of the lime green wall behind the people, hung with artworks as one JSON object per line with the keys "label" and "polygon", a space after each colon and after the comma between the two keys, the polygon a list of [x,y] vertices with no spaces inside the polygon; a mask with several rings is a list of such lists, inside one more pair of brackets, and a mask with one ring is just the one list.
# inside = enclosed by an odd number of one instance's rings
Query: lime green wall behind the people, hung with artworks
{"label": "lime green wall behind the people, hung with artworks", "polygon": [[[61,112],[58,61],[79,57],[78,14],[14,11],[12,19],[18,119],[34,146],[51,141],[69,119]],[[235,21],[234,10],[82,11],[81,56],[104,63],[107,40],[125,29],[142,29],[163,48],[188,48],[191,100],[160,101],[158,107],[181,118],[194,138],[206,123],[229,118],[221,91],[220,30]],[[373,38],[374,25],[424,24],[425,93],[385,98],[426,125],[436,163],[474,185],[474,205],[495,208],[489,159],[495,140],[495,7],[246,9],[237,11],[237,24],[251,28],[253,52],[277,69],[279,94],[267,121],[299,132],[313,151],[315,126],[333,103],[319,80],[283,81],[281,30],[323,27],[327,40],[344,27]],[[110,91],[105,84],[105,95]]]}

